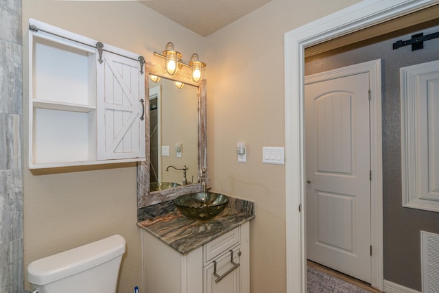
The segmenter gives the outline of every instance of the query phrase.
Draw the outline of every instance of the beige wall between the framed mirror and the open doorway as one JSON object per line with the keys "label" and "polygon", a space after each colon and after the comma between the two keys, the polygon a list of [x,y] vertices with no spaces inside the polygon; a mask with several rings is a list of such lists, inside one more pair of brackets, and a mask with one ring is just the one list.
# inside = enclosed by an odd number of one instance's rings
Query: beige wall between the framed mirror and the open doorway
{"label": "beige wall between the framed mirror and the open doorway", "polygon": [[209,176],[214,190],[256,202],[252,293],[286,290],[285,167],[262,164],[263,146],[285,145],[284,33],[357,2],[274,0],[206,37]]}

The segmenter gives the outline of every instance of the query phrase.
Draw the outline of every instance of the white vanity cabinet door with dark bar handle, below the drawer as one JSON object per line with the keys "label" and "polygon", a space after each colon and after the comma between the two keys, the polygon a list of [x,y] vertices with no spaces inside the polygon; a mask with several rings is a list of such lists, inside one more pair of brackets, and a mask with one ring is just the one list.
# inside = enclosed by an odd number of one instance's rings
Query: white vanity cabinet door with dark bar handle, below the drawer
{"label": "white vanity cabinet door with dark bar handle, below the drawer", "polygon": [[203,279],[204,293],[241,293],[241,246],[213,259]]}

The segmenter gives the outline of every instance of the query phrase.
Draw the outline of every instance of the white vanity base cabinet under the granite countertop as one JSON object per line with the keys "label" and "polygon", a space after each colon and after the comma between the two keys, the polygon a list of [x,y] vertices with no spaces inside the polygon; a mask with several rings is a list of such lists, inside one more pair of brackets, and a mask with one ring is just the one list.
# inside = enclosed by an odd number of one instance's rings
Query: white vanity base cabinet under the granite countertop
{"label": "white vanity base cabinet under the granite countertop", "polygon": [[186,254],[142,233],[143,293],[250,293],[249,222]]}

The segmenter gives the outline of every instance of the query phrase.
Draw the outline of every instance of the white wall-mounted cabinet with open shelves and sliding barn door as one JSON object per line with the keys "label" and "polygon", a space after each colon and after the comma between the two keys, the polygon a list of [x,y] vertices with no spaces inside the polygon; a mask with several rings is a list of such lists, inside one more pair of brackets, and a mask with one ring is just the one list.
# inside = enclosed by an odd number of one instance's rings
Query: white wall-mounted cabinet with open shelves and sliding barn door
{"label": "white wall-mounted cabinet with open shelves and sliding barn door", "polygon": [[145,159],[142,56],[29,19],[29,168]]}

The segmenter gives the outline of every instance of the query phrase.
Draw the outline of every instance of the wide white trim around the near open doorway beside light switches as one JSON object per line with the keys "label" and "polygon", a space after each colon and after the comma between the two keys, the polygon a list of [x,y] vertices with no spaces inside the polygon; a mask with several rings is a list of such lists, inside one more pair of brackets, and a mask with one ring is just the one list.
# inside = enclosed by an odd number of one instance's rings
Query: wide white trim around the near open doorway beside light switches
{"label": "wide white trim around the near open doorway beside light switches", "polygon": [[[438,3],[437,0],[364,0],[285,34],[285,178],[288,178],[285,180],[287,293],[305,293],[307,277],[305,213],[300,213],[301,204],[305,202],[303,148],[305,143],[303,128],[305,48],[436,3]],[[382,216],[381,219],[375,220],[382,222]],[[379,272],[375,274],[379,280],[375,280],[377,283],[372,285],[382,290],[382,265]]]}

